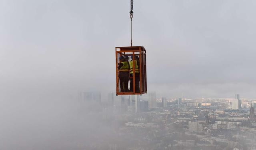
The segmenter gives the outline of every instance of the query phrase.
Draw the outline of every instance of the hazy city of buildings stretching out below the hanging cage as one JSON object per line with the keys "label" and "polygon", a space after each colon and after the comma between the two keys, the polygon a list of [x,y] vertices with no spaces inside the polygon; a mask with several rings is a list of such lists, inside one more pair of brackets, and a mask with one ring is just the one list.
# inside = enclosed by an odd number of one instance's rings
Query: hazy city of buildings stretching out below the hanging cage
{"label": "hazy city of buildings stretching out below the hanging cage", "polygon": [[115,138],[79,145],[92,150],[256,150],[256,99],[116,96],[80,92],[80,105],[93,102]]}

